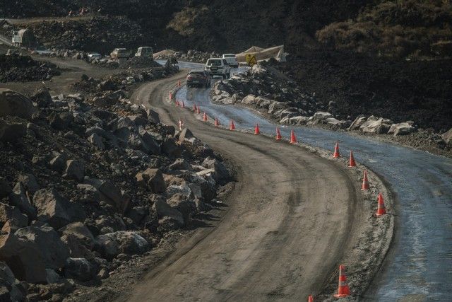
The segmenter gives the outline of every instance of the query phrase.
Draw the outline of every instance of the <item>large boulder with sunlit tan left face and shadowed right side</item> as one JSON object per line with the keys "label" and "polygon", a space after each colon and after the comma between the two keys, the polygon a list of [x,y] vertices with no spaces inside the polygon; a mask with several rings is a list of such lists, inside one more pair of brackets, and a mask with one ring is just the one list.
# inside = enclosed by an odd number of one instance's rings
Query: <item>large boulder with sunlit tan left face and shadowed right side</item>
{"label": "large boulder with sunlit tan left face and shadowed right side", "polygon": [[69,202],[55,189],[37,191],[33,196],[33,204],[37,209],[37,220],[47,222],[56,229],[85,218],[80,204]]}

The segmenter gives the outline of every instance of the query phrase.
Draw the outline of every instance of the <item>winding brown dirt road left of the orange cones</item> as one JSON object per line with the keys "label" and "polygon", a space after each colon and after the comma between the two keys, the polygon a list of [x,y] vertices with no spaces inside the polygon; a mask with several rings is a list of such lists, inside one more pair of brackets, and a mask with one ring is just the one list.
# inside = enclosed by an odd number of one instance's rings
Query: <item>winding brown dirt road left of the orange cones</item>
{"label": "winding brown dirt road left of the orange cones", "polygon": [[201,228],[133,290],[130,301],[295,301],[321,291],[360,215],[357,188],[331,161],[263,136],[215,129],[164,101],[181,78],[133,95],[166,124],[182,117],[195,136],[237,167],[237,185],[215,226]]}

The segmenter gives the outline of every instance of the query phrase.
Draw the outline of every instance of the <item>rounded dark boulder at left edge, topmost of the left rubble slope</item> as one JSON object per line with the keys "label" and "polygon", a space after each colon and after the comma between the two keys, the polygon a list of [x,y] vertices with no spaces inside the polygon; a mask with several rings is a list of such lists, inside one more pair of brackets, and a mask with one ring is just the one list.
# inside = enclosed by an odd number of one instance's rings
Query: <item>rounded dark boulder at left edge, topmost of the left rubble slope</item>
{"label": "rounded dark boulder at left edge, topmost of the left rubble slope", "polygon": [[35,112],[32,101],[16,91],[0,88],[0,117],[7,115],[30,118]]}

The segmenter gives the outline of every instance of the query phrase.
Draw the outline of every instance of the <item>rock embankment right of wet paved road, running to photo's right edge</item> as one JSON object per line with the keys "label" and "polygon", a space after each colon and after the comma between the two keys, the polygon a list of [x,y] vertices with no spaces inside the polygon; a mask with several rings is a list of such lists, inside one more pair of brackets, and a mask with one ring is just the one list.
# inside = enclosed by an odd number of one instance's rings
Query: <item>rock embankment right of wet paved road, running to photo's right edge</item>
{"label": "rock embankment right of wet paved road, running to photo's right edge", "polygon": [[[212,100],[225,105],[245,105],[261,112],[279,124],[289,126],[323,127],[381,135],[428,151],[447,155],[452,144],[429,129],[420,129],[414,121],[393,122],[384,117],[359,115],[352,120],[338,120],[331,112],[340,104],[335,101],[323,105],[315,93],[307,93],[270,64],[257,64],[242,74],[217,81],[211,91]],[[404,137],[407,138],[404,138]]]}

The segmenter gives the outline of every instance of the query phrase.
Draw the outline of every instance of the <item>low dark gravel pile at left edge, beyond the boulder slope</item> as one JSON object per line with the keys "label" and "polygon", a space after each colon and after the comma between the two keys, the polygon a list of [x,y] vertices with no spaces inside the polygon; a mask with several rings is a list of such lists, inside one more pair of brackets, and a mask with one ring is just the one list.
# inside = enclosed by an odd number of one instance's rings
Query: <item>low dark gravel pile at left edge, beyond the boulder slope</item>
{"label": "low dark gravel pile at left edge, beyond the boulder slope", "polygon": [[22,55],[0,54],[0,82],[26,82],[52,79],[60,73],[55,64],[35,61]]}

